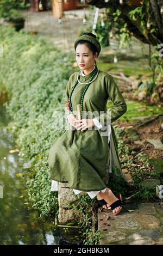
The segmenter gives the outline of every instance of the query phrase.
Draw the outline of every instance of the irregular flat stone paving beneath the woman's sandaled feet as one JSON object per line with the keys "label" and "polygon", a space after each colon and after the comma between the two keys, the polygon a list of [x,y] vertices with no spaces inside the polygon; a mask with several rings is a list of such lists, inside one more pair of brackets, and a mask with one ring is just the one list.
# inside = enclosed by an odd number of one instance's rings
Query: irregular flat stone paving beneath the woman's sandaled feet
{"label": "irregular flat stone paving beneath the woman's sandaled feet", "polygon": [[99,245],[163,245],[163,203],[124,205],[117,216],[98,209]]}

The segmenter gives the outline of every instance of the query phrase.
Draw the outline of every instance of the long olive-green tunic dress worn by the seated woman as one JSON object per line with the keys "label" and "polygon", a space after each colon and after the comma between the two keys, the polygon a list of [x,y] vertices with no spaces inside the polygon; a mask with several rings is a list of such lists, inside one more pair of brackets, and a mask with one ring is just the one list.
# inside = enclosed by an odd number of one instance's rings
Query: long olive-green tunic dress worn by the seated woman
{"label": "long olive-green tunic dress worn by the seated woman", "polygon": [[[80,76],[80,82],[88,82],[92,72],[84,77]],[[78,72],[74,72],[68,80],[65,105],[77,75]],[[77,113],[77,104],[81,103],[85,86],[78,83],[72,93],[73,113]],[[114,107],[109,111],[106,109],[108,99],[114,103]],[[96,117],[103,127],[108,127],[110,114],[112,123],[127,111],[126,102],[111,75],[99,70],[96,80],[90,84],[84,95],[83,111],[86,113],[83,118],[92,118],[90,114],[95,113],[94,118]],[[68,113],[71,111],[69,110]],[[104,128],[97,129],[96,126],[84,131],[72,128],[65,130],[49,149],[48,164],[51,169],[49,178],[68,182],[74,190],[86,192],[103,190],[108,184],[109,167],[117,166],[121,170],[117,139],[112,125],[109,143],[107,132],[104,131]]]}

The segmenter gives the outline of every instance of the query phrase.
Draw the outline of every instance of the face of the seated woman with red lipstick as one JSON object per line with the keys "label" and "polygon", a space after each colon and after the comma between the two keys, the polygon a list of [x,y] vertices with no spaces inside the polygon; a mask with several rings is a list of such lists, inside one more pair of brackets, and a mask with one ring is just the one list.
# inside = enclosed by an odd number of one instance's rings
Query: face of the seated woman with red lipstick
{"label": "face of the seated woman with red lipstick", "polygon": [[86,44],[78,44],[76,48],[76,61],[81,70],[91,71],[94,68],[94,63],[97,58],[97,52],[93,52]]}

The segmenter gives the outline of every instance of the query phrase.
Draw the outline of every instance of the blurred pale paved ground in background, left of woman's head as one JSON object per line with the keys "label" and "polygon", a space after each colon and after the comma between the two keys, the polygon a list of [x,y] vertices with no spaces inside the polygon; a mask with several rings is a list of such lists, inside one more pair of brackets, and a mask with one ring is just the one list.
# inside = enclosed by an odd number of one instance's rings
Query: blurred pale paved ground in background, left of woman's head
{"label": "blurred pale paved ground in background, left of woman's head", "polygon": [[[91,12],[91,13],[90,13]],[[87,16],[92,15],[92,11],[86,9]],[[52,10],[43,12],[24,12],[26,18],[24,31],[36,32],[42,36],[47,36],[52,42],[63,48],[65,51],[73,50],[73,42],[76,40],[79,28],[83,27],[84,10],[65,11],[61,23],[53,16]]]}

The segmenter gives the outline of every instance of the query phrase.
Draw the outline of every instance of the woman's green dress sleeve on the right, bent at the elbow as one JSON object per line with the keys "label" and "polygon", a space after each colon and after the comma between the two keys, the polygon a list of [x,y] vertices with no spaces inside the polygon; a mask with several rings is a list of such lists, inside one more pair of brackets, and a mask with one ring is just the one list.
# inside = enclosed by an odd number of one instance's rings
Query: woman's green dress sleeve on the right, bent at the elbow
{"label": "woman's green dress sleeve on the right, bent at the elbow", "polygon": [[122,93],[120,92],[120,89],[112,76],[108,76],[105,81],[108,98],[112,101],[114,107],[106,110],[105,113],[102,113],[96,117],[102,126],[106,126],[109,123],[114,122],[127,111],[126,102],[124,101]]}

